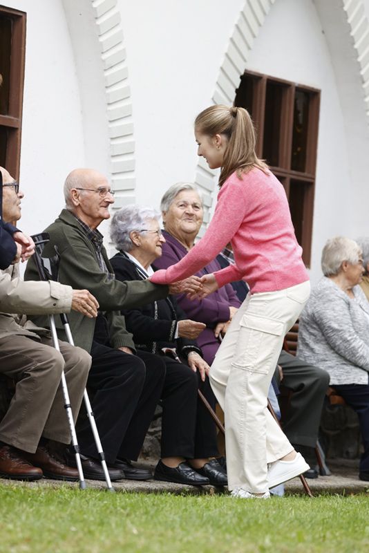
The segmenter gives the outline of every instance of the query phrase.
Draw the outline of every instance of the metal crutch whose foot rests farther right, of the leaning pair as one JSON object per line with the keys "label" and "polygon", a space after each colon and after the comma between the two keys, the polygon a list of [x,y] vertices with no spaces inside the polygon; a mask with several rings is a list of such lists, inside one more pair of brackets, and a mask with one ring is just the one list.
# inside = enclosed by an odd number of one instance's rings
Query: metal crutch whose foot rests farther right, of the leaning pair
{"label": "metal crutch whose foot rests farther right, of the leaning pair", "polygon": [[[49,237],[47,232],[43,232],[41,234],[37,234],[35,236],[32,236],[32,238],[35,241],[35,244],[38,247],[39,255],[41,256],[41,253],[44,250],[44,245],[50,240],[50,237]],[[55,247],[55,250],[57,250],[56,247]],[[43,268],[44,268],[44,263],[43,262],[49,262],[50,263],[50,270],[48,271],[50,273],[50,277],[52,277],[53,280],[58,280],[59,255],[58,255],[57,251],[56,251],[56,255],[53,258],[51,258],[51,259],[50,258],[46,258],[46,259],[41,258],[40,261],[41,261],[41,264],[43,265]],[[45,272],[45,268],[44,268],[44,272]],[[61,323],[64,326],[64,330],[66,332],[66,337],[68,339],[68,342],[71,346],[74,346],[75,344],[74,344],[74,341],[73,341],[72,333],[70,332],[68,317],[66,316],[65,313],[61,313],[60,318],[61,318]],[[104,471],[106,487],[109,491],[114,492],[115,489],[111,485],[111,479],[110,479],[110,475],[109,475],[109,472],[108,472],[108,467],[106,465],[106,460],[105,460],[104,451],[102,449],[102,443],[101,443],[101,440],[100,440],[100,435],[99,435],[99,432],[97,431],[95,416],[93,415],[91,402],[90,402],[90,399],[88,397],[88,393],[86,391],[86,388],[84,390],[84,404],[86,406],[88,420],[90,422],[93,437],[95,439],[97,453],[99,453],[100,462],[101,462],[101,465],[102,465],[102,469]],[[73,428],[74,428],[74,426],[73,426]],[[77,438],[76,438],[76,441],[77,441]]]}

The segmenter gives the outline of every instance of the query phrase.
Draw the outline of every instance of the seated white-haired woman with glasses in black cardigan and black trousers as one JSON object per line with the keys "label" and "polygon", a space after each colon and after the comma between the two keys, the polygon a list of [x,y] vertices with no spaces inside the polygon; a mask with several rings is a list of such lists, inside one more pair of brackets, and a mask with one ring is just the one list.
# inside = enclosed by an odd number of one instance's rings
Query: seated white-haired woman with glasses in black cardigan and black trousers
{"label": "seated white-haired woman with glasses in black cardigan and black trousers", "polygon": [[[111,259],[121,281],[147,279],[151,263],[165,242],[159,214],[151,208],[127,205],[111,222],[111,239],[118,253]],[[191,485],[225,485],[227,476],[214,458],[218,455],[216,429],[198,400],[198,388],[214,399],[207,373],[209,365],[195,339],[205,324],[187,319],[175,299],[168,297],[143,308],[122,311],[135,346],[161,355],[167,366],[162,391],[162,458],[154,478]]]}

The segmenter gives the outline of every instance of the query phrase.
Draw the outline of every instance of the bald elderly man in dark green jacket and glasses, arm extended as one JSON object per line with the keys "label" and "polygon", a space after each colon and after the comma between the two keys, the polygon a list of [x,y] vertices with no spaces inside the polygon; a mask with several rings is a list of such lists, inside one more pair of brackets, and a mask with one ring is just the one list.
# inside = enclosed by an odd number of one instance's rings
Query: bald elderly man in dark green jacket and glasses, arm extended
{"label": "bald elderly man in dark green jacket and glasses, arm extended", "polygon": [[[66,178],[64,197],[66,209],[46,229],[50,243],[44,254],[57,245],[60,282],[75,287],[83,283],[100,303],[96,322],[74,315],[70,327],[75,343],[91,352],[93,358],[88,388],[93,393],[91,404],[111,478],[151,478],[149,471],[133,467],[131,460],[138,458],[160,399],[165,365],[160,357],[136,352],[119,311],[164,298],[169,288],[149,281],[115,280],[103,236],[97,230],[110,217],[108,208],[114,202],[113,191],[102,174],[93,169],[75,169]],[[37,278],[32,263],[28,263],[26,278]],[[199,287],[193,281],[196,290]],[[182,284],[173,290],[182,290]],[[86,476],[103,479],[87,419],[77,437]]]}

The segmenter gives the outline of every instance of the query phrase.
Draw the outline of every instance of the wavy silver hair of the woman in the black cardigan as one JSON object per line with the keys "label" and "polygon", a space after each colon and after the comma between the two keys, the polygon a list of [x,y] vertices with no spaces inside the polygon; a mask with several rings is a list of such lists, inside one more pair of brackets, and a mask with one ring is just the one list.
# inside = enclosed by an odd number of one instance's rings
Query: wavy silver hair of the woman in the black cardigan
{"label": "wavy silver hair of the woman in the black cardigan", "polygon": [[130,252],[133,247],[131,237],[133,230],[142,230],[149,219],[159,221],[160,213],[152,207],[140,207],[131,203],[115,212],[111,220],[110,237],[117,250]]}

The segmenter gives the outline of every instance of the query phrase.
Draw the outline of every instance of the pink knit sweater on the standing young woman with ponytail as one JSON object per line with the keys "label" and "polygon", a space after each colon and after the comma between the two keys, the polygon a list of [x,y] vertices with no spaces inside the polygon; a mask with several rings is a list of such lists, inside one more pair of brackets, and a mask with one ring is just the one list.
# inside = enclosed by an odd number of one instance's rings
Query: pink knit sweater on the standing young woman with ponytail
{"label": "pink knit sweater on the standing young woman with ponytail", "polygon": [[181,261],[150,280],[169,284],[190,277],[229,242],[236,265],[215,273],[219,287],[243,279],[252,293],[275,292],[309,280],[283,186],[256,168],[241,179],[236,173],[227,178],[205,235]]}

